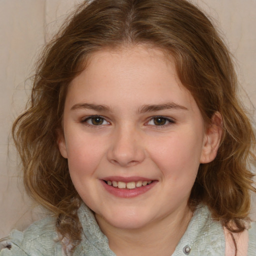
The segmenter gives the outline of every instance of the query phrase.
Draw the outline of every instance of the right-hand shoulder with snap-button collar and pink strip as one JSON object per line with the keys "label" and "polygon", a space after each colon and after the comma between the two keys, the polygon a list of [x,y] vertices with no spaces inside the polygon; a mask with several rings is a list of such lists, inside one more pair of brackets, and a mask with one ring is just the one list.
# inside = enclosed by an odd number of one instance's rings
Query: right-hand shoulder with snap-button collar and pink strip
{"label": "right-hand shoulder with snap-button collar and pink strip", "polygon": [[[234,240],[237,246],[236,254]],[[182,252],[186,248],[189,249],[189,255],[255,256],[256,225],[251,223],[251,227],[243,232],[231,233],[211,217],[206,206],[199,205],[173,256],[183,255]]]}

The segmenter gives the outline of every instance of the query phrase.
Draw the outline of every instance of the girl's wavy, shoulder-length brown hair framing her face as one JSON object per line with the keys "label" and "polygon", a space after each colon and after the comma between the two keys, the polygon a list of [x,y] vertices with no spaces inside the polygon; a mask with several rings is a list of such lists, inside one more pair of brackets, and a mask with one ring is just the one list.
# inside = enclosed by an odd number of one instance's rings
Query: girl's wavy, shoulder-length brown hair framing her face
{"label": "girl's wavy, shoulder-length brown hair framing her face", "polygon": [[255,137],[237,99],[230,54],[209,19],[186,0],[93,0],[83,2],[44,48],[26,111],[13,124],[28,194],[57,217],[56,227],[75,246],[81,199],[57,147],[68,84],[102,48],[147,44],[175,60],[182,84],[206,123],[222,116],[216,158],[198,169],[189,205],[206,204],[232,231],[242,231],[250,210]]}

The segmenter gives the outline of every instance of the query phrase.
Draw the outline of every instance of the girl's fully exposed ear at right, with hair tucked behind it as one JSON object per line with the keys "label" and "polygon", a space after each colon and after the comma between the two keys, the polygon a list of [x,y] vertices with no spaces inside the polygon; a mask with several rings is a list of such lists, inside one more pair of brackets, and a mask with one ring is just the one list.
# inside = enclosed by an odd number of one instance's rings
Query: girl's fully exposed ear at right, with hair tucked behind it
{"label": "girl's fully exposed ear at right, with hair tucked behind it", "polygon": [[206,127],[200,163],[207,163],[214,160],[221,141],[221,134],[222,117],[219,112],[215,112],[211,117],[211,123]]}

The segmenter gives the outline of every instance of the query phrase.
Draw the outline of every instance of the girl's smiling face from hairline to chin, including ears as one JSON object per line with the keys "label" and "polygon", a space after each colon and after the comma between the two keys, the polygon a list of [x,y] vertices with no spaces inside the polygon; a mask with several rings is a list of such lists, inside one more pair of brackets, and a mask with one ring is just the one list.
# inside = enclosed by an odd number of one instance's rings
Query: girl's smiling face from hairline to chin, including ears
{"label": "girl's smiling face from hairline to chin, including ears", "polygon": [[211,133],[172,61],[140,45],[92,55],[69,86],[58,145],[99,224],[139,228],[188,209]]}

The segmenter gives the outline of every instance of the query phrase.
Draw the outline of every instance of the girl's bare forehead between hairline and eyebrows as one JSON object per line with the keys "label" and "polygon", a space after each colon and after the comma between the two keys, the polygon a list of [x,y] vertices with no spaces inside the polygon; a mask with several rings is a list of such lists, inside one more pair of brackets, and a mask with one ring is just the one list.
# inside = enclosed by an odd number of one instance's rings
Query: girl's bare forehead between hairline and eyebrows
{"label": "girl's bare forehead between hairline and eyebrows", "polygon": [[[114,102],[107,100],[109,97]],[[67,94],[68,100],[111,104],[147,104],[191,97],[177,76],[171,56],[145,45],[94,52],[86,68],[70,83]]]}

